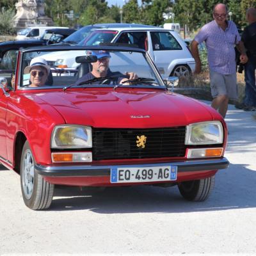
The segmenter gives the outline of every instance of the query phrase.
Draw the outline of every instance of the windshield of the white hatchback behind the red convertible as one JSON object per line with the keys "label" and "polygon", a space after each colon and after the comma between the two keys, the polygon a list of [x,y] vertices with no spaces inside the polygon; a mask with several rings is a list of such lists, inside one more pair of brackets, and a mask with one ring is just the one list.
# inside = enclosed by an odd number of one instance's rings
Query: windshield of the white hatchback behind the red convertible
{"label": "windshield of the white hatchback behind the red convertible", "polygon": [[116,36],[118,31],[111,31],[111,30],[99,30],[99,31],[93,31],[93,33],[88,36],[87,38],[84,38],[81,42],[79,42],[78,45],[99,45],[103,43],[110,43],[113,38]]}

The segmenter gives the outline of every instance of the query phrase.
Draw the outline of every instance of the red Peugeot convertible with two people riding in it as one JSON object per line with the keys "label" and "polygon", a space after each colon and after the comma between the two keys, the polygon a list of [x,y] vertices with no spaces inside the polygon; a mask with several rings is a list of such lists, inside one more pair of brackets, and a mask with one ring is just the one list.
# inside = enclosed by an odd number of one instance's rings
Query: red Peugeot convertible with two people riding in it
{"label": "red Peugeot convertible with two people riding in it", "polygon": [[[72,51],[79,68],[46,63],[56,51]],[[12,86],[0,78],[0,161],[20,174],[24,203],[49,208],[54,185],[177,185],[205,200],[228,166],[227,127],[173,83],[137,48],[20,50]]]}

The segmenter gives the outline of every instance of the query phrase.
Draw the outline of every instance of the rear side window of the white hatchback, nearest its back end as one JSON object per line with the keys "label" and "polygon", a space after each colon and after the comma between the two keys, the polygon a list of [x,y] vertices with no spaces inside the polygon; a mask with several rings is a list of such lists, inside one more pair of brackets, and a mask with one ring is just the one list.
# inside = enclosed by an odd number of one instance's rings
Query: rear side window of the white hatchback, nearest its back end
{"label": "rear side window of the white hatchback, nearest its back end", "polygon": [[154,51],[182,50],[179,42],[168,31],[150,32]]}

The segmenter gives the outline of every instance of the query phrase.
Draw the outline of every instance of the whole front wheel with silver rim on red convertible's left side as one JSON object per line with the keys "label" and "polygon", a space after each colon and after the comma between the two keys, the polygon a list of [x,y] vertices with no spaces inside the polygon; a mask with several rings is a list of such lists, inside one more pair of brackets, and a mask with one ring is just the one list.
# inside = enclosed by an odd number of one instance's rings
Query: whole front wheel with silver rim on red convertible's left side
{"label": "whole front wheel with silver rim on red convertible's left side", "polygon": [[26,206],[33,210],[50,207],[54,193],[54,184],[45,181],[42,175],[34,171],[35,159],[28,141],[24,144],[20,160],[20,186]]}

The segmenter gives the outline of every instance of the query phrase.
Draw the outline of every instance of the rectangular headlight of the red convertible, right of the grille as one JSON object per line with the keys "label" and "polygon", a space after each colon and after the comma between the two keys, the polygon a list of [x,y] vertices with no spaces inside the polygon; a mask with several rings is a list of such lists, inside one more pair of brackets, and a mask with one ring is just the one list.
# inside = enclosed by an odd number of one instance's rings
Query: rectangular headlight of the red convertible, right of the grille
{"label": "rectangular headlight of the red convertible, right of the grille", "polygon": [[202,122],[190,124],[186,129],[186,145],[207,145],[223,143],[221,122]]}

